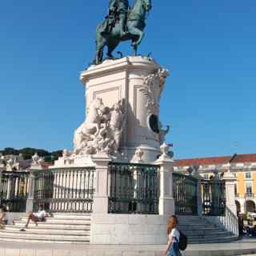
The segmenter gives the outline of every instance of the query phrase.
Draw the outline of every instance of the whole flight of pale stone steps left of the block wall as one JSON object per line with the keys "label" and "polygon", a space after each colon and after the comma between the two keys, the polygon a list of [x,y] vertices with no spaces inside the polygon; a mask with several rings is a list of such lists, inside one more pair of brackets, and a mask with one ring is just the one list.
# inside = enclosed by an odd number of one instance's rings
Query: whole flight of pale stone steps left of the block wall
{"label": "whole flight of pale stone steps left of the block wall", "polygon": [[27,216],[20,217],[15,225],[0,230],[0,240],[12,242],[43,243],[90,243],[91,214],[54,213],[45,222],[30,222],[26,231],[20,231],[26,224]]}

